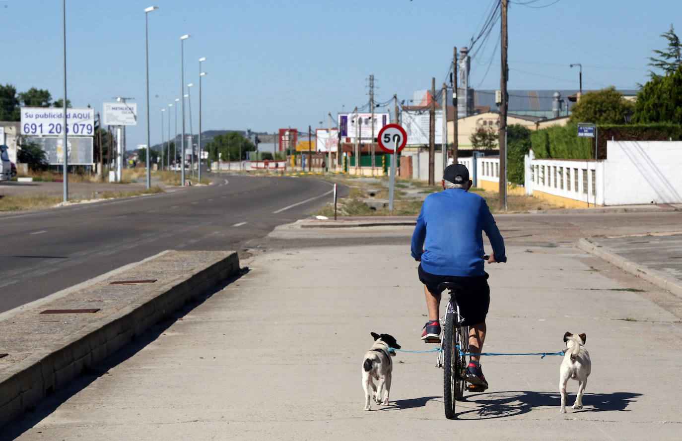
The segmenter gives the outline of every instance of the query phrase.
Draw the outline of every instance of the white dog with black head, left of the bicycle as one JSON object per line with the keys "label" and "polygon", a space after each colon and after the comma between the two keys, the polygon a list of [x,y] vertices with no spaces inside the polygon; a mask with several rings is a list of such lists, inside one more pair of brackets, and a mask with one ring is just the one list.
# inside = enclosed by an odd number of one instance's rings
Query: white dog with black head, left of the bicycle
{"label": "white dog with black head, left of the bicycle", "polygon": [[[382,403],[388,406],[388,393],[391,389],[391,371],[393,362],[391,356],[396,356],[396,352],[389,351],[388,348],[400,349],[396,339],[389,334],[372,333],[374,346],[367,351],[362,362],[362,389],[365,390],[365,410],[371,410],[370,399],[374,397],[377,404]],[[372,378],[379,381],[379,388],[374,385]],[[370,393],[372,389],[373,393]],[[379,389],[377,391],[377,389]]]}

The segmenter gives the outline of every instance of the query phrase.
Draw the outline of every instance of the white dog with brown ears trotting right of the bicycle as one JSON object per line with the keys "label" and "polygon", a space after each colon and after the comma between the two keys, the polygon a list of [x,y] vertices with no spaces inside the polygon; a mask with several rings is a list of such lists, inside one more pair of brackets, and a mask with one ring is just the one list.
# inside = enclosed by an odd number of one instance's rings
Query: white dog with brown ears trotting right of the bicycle
{"label": "white dog with brown ears trotting right of the bicycle", "polygon": [[559,412],[566,413],[566,384],[569,378],[578,380],[578,396],[573,405],[573,409],[582,409],[582,393],[585,391],[587,385],[587,377],[592,370],[592,362],[590,361],[590,354],[587,353],[584,344],[587,340],[587,335],[572,334],[566,332],[563,336],[563,341],[566,343],[565,355],[559,367],[559,391],[561,391],[561,410]]}

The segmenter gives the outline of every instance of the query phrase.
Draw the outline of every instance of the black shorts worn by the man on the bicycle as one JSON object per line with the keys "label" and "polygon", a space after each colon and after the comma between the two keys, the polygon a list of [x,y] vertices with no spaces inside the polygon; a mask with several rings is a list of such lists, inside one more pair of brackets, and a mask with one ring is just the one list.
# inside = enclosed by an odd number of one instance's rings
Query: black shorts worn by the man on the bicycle
{"label": "black shorts worn by the man on the bicycle", "polygon": [[460,277],[456,275],[436,275],[427,273],[419,264],[419,280],[426,285],[431,294],[437,296],[438,285],[443,282],[456,282],[464,288],[464,295],[457,297],[460,314],[464,317],[465,325],[479,324],[486,321],[488,307],[490,307],[490,286],[488,274],[476,277]]}

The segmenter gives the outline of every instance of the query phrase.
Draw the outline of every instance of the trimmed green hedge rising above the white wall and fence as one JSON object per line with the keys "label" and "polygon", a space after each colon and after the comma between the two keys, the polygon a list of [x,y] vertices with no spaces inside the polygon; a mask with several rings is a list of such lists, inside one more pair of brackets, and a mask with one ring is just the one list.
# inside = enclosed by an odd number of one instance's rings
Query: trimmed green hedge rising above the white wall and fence
{"label": "trimmed green hedge rising above the white wall and fence", "polygon": [[[597,157],[606,159],[606,141],[667,141],[682,140],[682,125],[599,124],[597,125]],[[578,138],[578,125],[554,125],[531,134],[533,154],[537,158],[594,159],[593,138]]]}

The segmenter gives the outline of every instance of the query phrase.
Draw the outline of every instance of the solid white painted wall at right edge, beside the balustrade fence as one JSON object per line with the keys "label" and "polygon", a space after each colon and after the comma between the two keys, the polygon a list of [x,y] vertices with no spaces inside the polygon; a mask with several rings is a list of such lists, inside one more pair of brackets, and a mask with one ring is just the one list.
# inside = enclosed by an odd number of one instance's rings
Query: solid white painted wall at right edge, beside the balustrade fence
{"label": "solid white painted wall at right edge, beside the balustrade fence", "polygon": [[608,141],[604,204],[682,203],[681,141]]}

